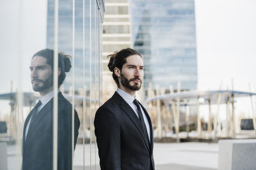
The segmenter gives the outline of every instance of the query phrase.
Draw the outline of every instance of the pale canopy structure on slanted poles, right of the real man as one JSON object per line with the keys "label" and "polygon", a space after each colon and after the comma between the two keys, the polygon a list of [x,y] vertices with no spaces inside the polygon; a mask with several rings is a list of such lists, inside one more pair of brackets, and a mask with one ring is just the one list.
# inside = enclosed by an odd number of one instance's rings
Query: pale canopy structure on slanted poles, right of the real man
{"label": "pale canopy structure on slanted poles, right of the real man", "polygon": [[[151,89],[152,90],[152,89]],[[170,90],[171,91],[171,90]],[[160,94],[159,92],[156,92]],[[152,92],[150,92],[152,94]],[[154,92],[153,92],[154,94]],[[162,94],[157,96],[150,96],[146,100],[149,106],[156,106],[157,113],[157,129],[158,134],[161,134],[161,120],[164,121],[164,118],[161,118],[161,115],[172,114],[175,124],[175,132],[177,134],[177,141],[179,141],[179,117],[180,117],[180,106],[198,106],[197,110],[197,132],[198,137],[202,137],[202,127],[201,120],[199,116],[199,106],[208,105],[209,106],[209,121],[207,122],[207,131],[209,134],[212,134],[212,138],[216,137],[216,134],[221,129],[221,123],[219,118],[219,107],[220,104],[227,104],[227,120],[226,120],[226,136],[231,138],[236,138],[236,125],[235,125],[235,115],[234,115],[234,103],[236,97],[251,97],[256,96],[256,93],[253,92],[244,92],[238,90],[206,90],[206,91],[183,91],[183,92],[172,92],[169,94]],[[162,104],[160,104],[162,103]],[[211,105],[217,104],[218,109],[216,115],[212,115]],[[232,111],[230,112],[229,106],[232,106]],[[163,109],[164,108],[164,109]],[[253,108],[253,106],[252,106]],[[165,111],[166,113],[163,113]],[[186,110],[187,111],[187,110]],[[172,113],[171,113],[172,112]],[[189,124],[189,118],[187,113],[186,122]],[[213,120],[211,122],[211,120]],[[213,127],[212,127],[213,124]],[[187,125],[188,126],[188,125]],[[253,127],[256,129],[255,122],[255,113],[253,112]],[[188,132],[188,131],[187,131]],[[256,134],[256,131],[255,131]],[[158,136],[161,138],[161,135]]]}

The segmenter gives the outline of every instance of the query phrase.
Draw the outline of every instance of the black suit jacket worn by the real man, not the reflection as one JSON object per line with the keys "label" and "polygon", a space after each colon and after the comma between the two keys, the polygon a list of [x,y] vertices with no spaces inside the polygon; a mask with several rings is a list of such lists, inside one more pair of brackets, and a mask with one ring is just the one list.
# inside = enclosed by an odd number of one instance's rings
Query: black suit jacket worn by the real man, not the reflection
{"label": "black suit jacket worn by the real man, not the reflection", "polygon": [[97,110],[94,125],[102,170],[154,169],[152,124],[143,111],[150,125],[150,144],[136,113],[117,92]]}

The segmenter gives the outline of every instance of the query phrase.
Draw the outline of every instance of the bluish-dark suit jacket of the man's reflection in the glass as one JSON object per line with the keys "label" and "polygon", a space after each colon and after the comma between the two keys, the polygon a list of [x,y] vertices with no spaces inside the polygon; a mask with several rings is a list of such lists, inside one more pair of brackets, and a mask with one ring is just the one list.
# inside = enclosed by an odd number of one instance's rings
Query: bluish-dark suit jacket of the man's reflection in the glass
{"label": "bluish-dark suit jacket of the man's reflection in the glass", "polygon": [[[31,118],[29,113],[23,131],[23,170],[52,169],[52,125],[53,125],[53,98],[36,114],[29,125],[26,141],[24,134],[26,125]],[[79,118],[75,111],[74,116],[74,145],[79,129]],[[72,169],[72,104],[59,92],[58,94],[58,169]]]}

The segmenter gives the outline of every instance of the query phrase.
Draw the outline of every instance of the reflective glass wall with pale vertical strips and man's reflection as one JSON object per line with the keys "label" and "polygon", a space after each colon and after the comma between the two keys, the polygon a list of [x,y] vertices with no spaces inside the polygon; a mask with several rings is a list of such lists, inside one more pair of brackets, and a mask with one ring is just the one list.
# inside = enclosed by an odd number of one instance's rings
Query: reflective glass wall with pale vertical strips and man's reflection
{"label": "reflective glass wall with pale vertical strips and man's reflection", "polygon": [[0,169],[99,169],[104,1],[0,8]]}

